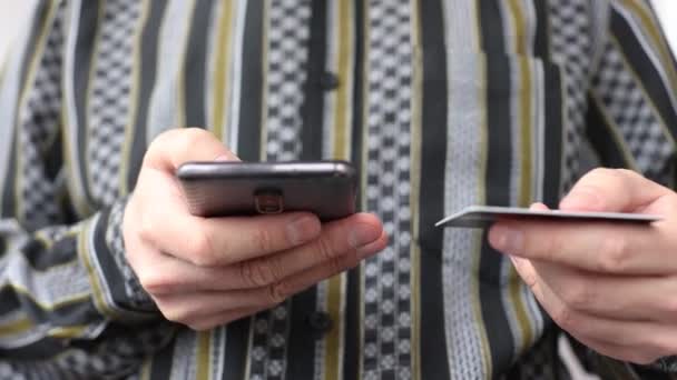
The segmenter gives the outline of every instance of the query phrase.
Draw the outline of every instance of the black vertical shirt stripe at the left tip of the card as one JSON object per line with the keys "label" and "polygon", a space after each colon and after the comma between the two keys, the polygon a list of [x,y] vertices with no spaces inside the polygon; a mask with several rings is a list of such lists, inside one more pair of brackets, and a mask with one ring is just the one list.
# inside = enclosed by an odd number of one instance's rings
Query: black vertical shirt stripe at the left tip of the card
{"label": "black vertical shirt stripe at the left tip of the card", "polygon": [[421,114],[421,186],[419,197],[420,267],[420,358],[422,379],[449,379],[442,293],[442,219],[447,154],[447,50],[442,1],[420,0],[420,36],[423,56]]}

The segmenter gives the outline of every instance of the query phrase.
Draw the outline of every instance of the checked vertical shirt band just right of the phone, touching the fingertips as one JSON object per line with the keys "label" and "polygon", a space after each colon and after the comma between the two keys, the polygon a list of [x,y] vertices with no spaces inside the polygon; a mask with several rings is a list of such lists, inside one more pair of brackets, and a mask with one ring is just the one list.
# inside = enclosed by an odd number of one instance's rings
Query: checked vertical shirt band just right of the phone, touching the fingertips
{"label": "checked vertical shirt band just right of the phone, touching the fingertips", "polygon": [[[389,246],[364,266],[362,378],[411,379],[411,93],[408,1],[366,8],[366,208],[383,220]],[[377,21],[376,21],[377,20]],[[404,297],[402,297],[404,296]]]}

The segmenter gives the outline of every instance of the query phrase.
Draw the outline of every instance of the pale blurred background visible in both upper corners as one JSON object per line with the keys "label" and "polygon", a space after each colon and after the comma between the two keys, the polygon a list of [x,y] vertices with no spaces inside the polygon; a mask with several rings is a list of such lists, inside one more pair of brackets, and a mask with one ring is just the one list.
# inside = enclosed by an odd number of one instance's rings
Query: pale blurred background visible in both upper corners
{"label": "pale blurred background visible in both upper corners", "polygon": [[[24,22],[26,11],[36,0],[0,0],[0,58],[4,57],[17,28]],[[677,51],[677,1],[651,0],[661,18],[673,51]],[[0,59],[1,61],[1,59]]]}

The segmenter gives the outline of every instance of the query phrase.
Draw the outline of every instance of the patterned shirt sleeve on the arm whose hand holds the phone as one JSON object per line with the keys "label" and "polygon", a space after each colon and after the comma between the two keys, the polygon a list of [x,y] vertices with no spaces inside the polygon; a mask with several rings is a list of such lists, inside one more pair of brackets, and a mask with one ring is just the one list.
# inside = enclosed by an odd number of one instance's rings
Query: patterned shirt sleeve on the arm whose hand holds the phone
{"label": "patterned shirt sleeve on the arm whose hand holds the phone", "polygon": [[67,4],[38,2],[0,77],[0,378],[124,373],[174,329],[125,259],[126,198],[82,217],[69,206]]}

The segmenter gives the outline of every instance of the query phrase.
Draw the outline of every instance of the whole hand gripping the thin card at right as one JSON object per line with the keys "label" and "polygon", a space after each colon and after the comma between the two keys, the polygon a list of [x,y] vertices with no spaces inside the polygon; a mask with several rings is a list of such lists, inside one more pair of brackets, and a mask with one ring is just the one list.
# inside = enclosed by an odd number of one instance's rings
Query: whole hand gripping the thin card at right
{"label": "whole hand gripping the thin card at right", "polygon": [[640,364],[676,354],[677,193],[628,170],[598,169],[560,209],[664,218],[650,224],[506,220],[489,240],[583,344]]}

